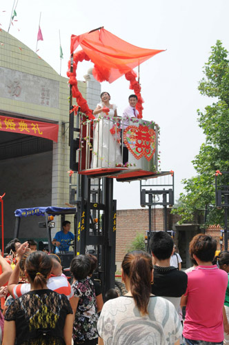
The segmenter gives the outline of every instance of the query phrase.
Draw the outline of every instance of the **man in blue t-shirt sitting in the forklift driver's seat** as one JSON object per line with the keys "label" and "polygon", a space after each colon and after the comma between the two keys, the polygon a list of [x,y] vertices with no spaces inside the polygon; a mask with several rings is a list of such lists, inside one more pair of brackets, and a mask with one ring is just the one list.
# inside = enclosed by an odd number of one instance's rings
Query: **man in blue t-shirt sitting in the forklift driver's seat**
{"label": "man in blue t-shirt sitting in the forklift driver's seat", "polygon": [[71,227],[70,221],[68,220],[63,221],[62,223],[63,230],[58,231],[58,233],[56,233],[56,235],[54,236],[54,239],[52,239],[52,244],[57,247],[55,250],[55,253],[68,252],[69,250],[68,242],[71,239],[74,239],[74,235],[70,233],[70,227]]}

